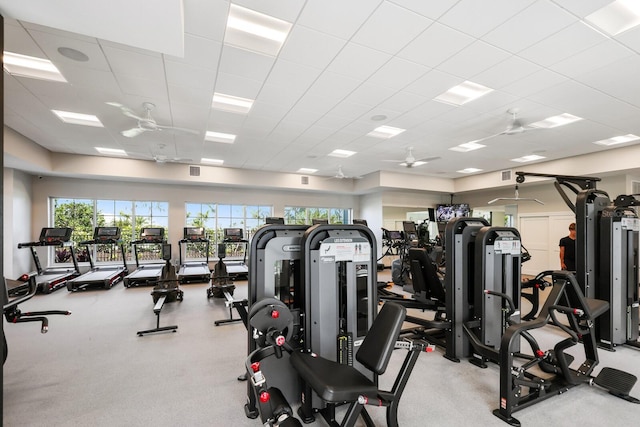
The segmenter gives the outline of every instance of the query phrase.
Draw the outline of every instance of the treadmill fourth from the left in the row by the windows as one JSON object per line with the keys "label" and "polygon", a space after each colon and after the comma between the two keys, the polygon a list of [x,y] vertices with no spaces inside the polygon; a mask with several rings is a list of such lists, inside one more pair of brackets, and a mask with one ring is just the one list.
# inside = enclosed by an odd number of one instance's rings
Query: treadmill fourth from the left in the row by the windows
{"label": "treadmill fourth from the left in the row by the windows", "polygon": [[[178,281],[180,283],[206,283],[211,278],[209,270],[209,239],[207,239],[204,227],[185,227],[184,238],[178,242],[180,252],[180,270]],[[195,248],[201,253],[204,246],[205,258],[187,261],[189,248]],[[182,254],[184,252],[184,258]]]}

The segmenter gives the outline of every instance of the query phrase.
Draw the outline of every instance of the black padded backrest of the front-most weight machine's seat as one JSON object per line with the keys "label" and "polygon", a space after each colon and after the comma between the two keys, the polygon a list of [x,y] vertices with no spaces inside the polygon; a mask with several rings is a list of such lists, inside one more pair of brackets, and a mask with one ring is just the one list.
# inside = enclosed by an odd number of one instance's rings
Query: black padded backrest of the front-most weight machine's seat
{"label": "black padded backrest of the front-most weight machine's seat", "polygon": [[406,308],[386,302],[364,337],[356,353],[356,360],[376,374],[382,375],[387,370],[406,315]]}

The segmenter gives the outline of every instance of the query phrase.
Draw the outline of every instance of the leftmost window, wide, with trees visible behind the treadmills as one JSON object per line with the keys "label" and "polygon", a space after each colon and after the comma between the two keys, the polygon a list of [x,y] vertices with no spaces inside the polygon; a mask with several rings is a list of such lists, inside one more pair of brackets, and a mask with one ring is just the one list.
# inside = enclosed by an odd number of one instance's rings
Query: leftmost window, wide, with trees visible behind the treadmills
{"label": "leftmost window, wide, with trees visible behind the treadmills", "polygon": [[[169,227],[169,203],[157,201],[131,200],[92,200],[53,198],[52,212],[54,227],[71,227],[74,244],[93,238],[95,227],[119,227],[127,260],[132,260],[131,242],[138,239],[143,227],[162,227],[165,235]],[[102,246],[102,245],[101,245]],[[92,248],[95,261],[113,261],[120,259],[119,250],[107,247]],[[87,262],[85,248],[77,250],[78,261]],[[57,254],[56,254],[57,255]],[[61,257],[56,256],[56,262]]]}

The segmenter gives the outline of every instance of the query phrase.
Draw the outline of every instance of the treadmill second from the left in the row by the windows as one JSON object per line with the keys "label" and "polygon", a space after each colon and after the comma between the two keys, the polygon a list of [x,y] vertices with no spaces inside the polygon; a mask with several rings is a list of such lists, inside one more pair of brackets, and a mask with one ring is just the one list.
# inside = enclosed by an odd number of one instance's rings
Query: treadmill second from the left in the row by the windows
{"label": "treadmill second from the left in the row by the windows", "polygon": [[[122,280],[129,272],[124,253],[124,245],[120,240],[119,227],[96,227],[93,231],[93,239],[80,242],[80,244],[87,247],[87,257],[89,258],[91,269],[83,275],[69,280],[67,282],[68,291],[75,292],[88,288],[111,289],[113,285]],[[115,254],[114,256],[114,253],[116,252],[116,248],[119,248],[122,265],[113,263],[96,266],[91,257],[90,245],[100,245],[103,248],[108,248],[111,259],[117,259],[118,255]]]}

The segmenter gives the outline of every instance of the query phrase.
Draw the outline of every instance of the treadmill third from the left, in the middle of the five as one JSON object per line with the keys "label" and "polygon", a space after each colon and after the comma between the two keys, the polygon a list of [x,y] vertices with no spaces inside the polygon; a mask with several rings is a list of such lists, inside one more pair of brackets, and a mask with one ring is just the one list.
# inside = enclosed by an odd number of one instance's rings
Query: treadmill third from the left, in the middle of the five
{"label": "treadmill third from the left, in the middle of the five", "polygon": [[151,251],[155,251],[162,256],[162,246],[166,244],[164,239],[164,228],[162,227],[146,227],[140,230],[140,240],[136,240],[131,243],[133,246],[133,253],[136,258],[136,270],[133,273],[129,273],[124,277],[123,283],[125,288],[131,286],[155,286],[162,276],[165,260],[157,258],[148,262],[140,262],[140,250],[141,248],[147,248]]}

